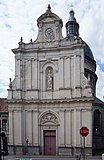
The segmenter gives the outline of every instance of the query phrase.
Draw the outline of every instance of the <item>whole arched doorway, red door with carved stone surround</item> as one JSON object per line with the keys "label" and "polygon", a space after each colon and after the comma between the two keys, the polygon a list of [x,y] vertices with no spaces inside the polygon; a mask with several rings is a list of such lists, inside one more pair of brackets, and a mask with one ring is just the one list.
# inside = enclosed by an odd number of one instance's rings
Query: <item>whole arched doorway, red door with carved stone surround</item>
{"label": "whole arched doorway, red door with carved stone surround", "polygon": [[57,154],[59,119],[52,111],[45,112],[40,117],[40,133],[42,154],[53,156]]}

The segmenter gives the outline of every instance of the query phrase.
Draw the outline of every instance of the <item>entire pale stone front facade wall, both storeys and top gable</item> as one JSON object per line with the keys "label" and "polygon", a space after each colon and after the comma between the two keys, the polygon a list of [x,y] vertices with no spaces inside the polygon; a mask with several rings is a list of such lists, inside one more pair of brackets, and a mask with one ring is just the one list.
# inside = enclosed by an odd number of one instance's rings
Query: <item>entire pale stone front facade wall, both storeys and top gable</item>
{"label": "entire pale stone front facade wall, both storeys and top gable", "polygon": [[[38,27],[36,41],[20,42],[13,50],[15,78],[8,90],[9,143],[25,145],[28,139],[28,145],[41,146],[43,153],[43,131],[55,130],[58,154],[58,147],[81,147],[80,128],[87,126],[86,147],[91,147],[93,99],[89,79],[84,75],[82,40],[63,38],[62,23],[56,15],[40,17]],[[47,37],[48,29],[52,34]],[[47,88],[48,67],[52,68],[52,88]],[[42,123],[44,114],[46,122]]]}

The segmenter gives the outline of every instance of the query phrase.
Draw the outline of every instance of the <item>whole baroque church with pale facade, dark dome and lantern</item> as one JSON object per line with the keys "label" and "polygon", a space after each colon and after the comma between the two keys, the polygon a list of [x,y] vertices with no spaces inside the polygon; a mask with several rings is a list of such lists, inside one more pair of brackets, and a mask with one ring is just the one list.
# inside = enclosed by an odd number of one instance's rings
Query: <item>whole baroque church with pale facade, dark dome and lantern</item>
{"label": "whole baroque church with pale facade, dark dome and lantern", "polygon": [[79,37],[74,11],[66,37],[63,21],[50,5],[37,20],[37,39],[15,54],[15,77],[8,89],[9,152],[75,155],[81,152],[80,128],[87,127],[86,154],[104,148],[104,104],[96,98],[96,61]]}

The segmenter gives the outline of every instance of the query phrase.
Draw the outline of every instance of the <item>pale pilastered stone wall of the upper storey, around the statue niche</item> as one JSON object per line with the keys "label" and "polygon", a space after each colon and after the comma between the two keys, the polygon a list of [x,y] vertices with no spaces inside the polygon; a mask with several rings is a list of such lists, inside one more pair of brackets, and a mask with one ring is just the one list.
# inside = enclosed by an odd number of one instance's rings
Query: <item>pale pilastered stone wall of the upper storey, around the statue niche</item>
{"label": "pale pilastered stone wall of the upper storey, around the statue niche", "polygon": [[[76,44],[77,45],[77,44]],[[84,76],[83,50],[67,48],[61,52],[41,49],[28,56],[16,57],[16,75],[8,98],[62,99],[91,96],[91,86]],[[46,90],[46,69],[53,69],[53,90]],[[82,79],[83,77],[83,79]],[[12,92],[12,93],[11,93]]]}

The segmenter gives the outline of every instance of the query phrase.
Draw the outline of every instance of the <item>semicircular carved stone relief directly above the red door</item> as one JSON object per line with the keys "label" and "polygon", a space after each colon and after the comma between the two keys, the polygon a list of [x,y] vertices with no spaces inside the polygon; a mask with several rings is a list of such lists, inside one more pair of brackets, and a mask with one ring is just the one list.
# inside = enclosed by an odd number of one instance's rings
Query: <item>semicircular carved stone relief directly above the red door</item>
{"label": "semicircular carved stone relief directly above the red door", "polygon": [[41,124],[45,124],[47,122],[53,122],[53,123],[57,124],[58,118],[52,113],[46,113],[41,118]]}

